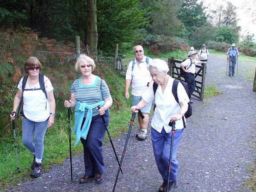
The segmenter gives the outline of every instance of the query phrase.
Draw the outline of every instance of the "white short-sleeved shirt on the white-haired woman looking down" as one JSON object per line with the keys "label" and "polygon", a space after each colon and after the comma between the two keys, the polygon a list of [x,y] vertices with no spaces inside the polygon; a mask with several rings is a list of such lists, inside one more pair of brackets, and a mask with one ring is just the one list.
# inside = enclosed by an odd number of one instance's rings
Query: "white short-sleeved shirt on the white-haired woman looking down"
{"label": "white short-sleeved shirt on the white-haired woman looking down", "polygon": [[[164,93],[162,93],[161,86],[158,85],[155,96],[153,91],[153,84],[151,84],[148,89],[142,94],[143,100],[147,103],[152,103],[152,101],[155,99],[156,108],[154,116],[152,117],[151,126],[152,128],[156,129],[157,132],[161,132],[163,127],[165,132],[171,132],[172,127],[168,125],[171,120],[171,116],[180,112],[180,105],[176,102],[172,94],[173,81],[174,79],[169,76]],[[185,100],[187,103],[189,102],[188,94],[186,93],[185,88],[181,83],[178,84],[177,95],[179,98],[179,102],[183,100]],[[184,128],[183,121],[182,119],[180,119],[176,121],[175,130],[182,128]]]}

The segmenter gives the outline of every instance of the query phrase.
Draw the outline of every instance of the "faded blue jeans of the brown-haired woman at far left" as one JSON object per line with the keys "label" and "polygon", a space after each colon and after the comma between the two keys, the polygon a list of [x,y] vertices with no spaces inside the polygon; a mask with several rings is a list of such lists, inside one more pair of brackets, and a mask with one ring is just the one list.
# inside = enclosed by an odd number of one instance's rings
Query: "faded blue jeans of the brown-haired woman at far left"
{"label": "faded blue jeans of the brown-haired woman at far left", "polygon": [[44,153],[44,135],[48,120],[34,122],[26,118],[22,119],[22,143],[36,159],[42,159]]}

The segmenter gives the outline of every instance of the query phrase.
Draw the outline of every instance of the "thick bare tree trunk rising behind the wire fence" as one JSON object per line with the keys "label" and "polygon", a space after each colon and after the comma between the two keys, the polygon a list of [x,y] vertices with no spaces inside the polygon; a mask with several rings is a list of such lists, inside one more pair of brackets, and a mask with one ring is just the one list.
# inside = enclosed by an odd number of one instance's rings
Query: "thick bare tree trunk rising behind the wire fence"
{"label": "thick bare tree trunk rising behind the wire fence", "polygon": [[97,53],[98,32],[97,32],[97,13],[96,12],[97,12],[96,0],[87,0],[86,44],[88,44],[90,51],[95,52],[93,54],[94,56],[98,55]]}

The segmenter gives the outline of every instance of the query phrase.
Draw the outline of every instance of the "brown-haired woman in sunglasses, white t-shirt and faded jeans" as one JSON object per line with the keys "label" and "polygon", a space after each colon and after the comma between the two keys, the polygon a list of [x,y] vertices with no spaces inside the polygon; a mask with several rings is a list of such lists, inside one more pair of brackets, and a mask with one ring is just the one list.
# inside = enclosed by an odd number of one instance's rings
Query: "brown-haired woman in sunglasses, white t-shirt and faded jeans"
{"label": "brown-haired woman in sunglasses, white t-shirt and faded jeans", "polygon": [[[24,82],[24,91],[22,85],[26,76],[18,84],[10,118],[14,120],[18,115],[16,110],[23,97],[22,142],[32,152],[31,176],[38,177],[42,171],[44,135],[46,129],[54,124],[55,99],[51,81],[46,76],[42,75],[41,77],[39,74],[42,65],[36,57],[29,57],[26,60],[24,70],[28,74],[27,81]],[[40,86],[40,80],[44,84],[44,89]],[[47,95],[45,95],[45,92]]]}

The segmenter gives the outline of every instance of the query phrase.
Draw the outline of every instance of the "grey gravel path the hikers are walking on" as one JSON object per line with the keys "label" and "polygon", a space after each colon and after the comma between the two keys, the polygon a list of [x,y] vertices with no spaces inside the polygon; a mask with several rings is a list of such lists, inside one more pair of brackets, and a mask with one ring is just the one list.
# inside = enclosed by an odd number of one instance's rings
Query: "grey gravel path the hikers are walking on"
{"label": "grey gravel path the hikers are walking on", "polygon": [[[232,77],[226,76],[224,54],[211,54],[210,58],[206,86],[219,88],[223,95],[204,101],[193,98],[193,115],[188,119],[177,154],[180,168],[176,192],[248,192],[243,187],[243,180],[249,177],[247,168],[256,158],[252,148],[256,147],[253,143],[256,140],[256,93],[241,74],[245,63],[239,63],[239,74]],[[157,192],[162,180],[154,160],[151,138],[136,140],[137,121],[133,128],[122,164],[124,175],[119,175],[116,192]],[[126,134],[124,132],[113,140],[120,157]],[[50,172],[44,172],[32,181],[15,184],[6,191],[112,192],[118,165],[110,143],[104,146],[106,169],[101,184],[94,181],[79,184],[84,173],[82,154],[74,155],[72,159],[73,182],[67,159],[65,164],[53,166]]]}

